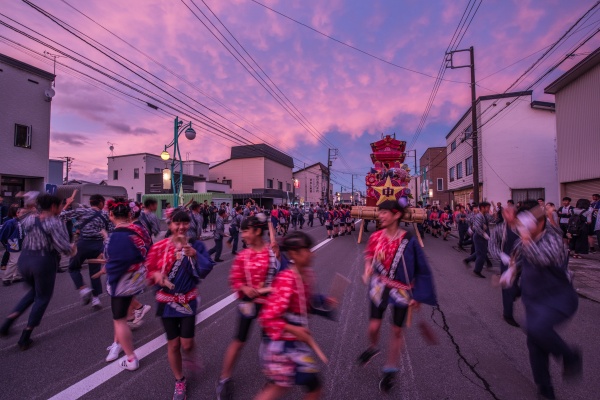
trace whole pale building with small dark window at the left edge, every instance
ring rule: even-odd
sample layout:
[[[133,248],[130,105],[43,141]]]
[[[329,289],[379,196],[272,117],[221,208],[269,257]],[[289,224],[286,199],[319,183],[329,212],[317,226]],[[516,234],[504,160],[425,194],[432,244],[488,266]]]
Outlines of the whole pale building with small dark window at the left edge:
[[[0,194],[43,191],[50,159],[54,75],[0,54]]]

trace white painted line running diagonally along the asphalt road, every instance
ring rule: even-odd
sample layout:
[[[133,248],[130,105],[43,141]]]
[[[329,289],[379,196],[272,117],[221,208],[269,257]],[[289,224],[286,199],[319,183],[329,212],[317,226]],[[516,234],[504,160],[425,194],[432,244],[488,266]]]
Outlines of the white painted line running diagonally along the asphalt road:
[[[326,245],[327,243],[329,243],[331,240],[332,239],[326,239],[310,250],[316,251],[324,245]],[[233,293],[225,297],[224,299],[221,299],[220,301],[208,307],[207,309],[201,311],[198,315],[196,315],[196,325],[200,324],[202,321],[212,317],[219,311],[223,310],[225,307],[233,303],[236,299],[237,294]],[[142,360],[166,344],[166,336],[160,335],[152,339],[145,345],[137,348],[135,350],[135,354],[137,355],[139,360]],[[124,371],[124,369],[119,366],[120,360],[121,359],[111,364],[108,364],[106,367],[94,372],[86,378],[83,378],[82,380],[73,384],[72,386],[69,386],[62,392],[55,394],[49,400],[74,400],[88,394],[98,386],[102,385],[109,379],[114,378],[115,376]]]

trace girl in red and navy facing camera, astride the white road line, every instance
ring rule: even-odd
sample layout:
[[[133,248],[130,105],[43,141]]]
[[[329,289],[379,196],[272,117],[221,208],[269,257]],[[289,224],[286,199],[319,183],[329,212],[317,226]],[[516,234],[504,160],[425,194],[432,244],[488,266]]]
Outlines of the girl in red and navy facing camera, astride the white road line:
[[[168,239],[155,243],[146,258],[148,276],[160,289],[156,292],[157,316],[167,334],[168,357],[175,375],[174,400],[186,398],[186,380],[180,350],[194,367],[194,331],[198,308],[197,286],[212,271],[214,262],[201,241],[188,244],[190,216],[177,210],[171,215]]]

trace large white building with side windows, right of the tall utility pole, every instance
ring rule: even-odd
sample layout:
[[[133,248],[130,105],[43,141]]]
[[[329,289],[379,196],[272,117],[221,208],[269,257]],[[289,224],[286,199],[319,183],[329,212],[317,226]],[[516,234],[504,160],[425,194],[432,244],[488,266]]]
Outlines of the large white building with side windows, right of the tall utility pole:
[[[515,203],[542,197],[559,204],[554,103],[531,101],[531,91],[481,96],[479,190],[483,201]],[[502,110],[502,111],[500,111]],[[448,190],[454,203],[473,200],[471,109],[446,136]]]

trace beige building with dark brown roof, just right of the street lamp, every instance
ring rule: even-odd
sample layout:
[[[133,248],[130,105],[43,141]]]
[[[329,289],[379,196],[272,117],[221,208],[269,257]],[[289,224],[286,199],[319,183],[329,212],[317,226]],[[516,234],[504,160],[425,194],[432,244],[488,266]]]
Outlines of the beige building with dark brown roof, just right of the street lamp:
[[[294,159],[266,144],[235,146],[231,157],[209,169],[211,181],[231,186],[234,202],[253,198],[264,206],[291,202]]]

